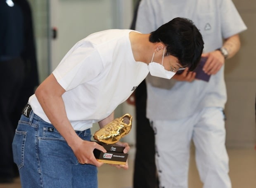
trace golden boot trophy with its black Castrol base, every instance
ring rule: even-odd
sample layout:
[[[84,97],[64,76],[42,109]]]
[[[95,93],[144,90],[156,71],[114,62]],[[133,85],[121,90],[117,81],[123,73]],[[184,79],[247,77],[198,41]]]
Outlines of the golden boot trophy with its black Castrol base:
[[[93,138],[107,150],[107,153],[96,149],[93,151],[98,161],[116,165],[126,164],[128,154],[123,153],[124,147],[115,143],[130,132],[132,120],[133,117],[130,114],[125,114],[95,132]]]

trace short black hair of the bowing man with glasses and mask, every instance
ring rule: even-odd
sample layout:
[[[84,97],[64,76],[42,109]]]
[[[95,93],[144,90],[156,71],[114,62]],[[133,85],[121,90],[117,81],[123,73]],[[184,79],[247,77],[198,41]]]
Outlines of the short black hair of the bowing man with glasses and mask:
[[[183,67],[193,71],[204,48],[201,33],[190,19],[174,18],[150,33],[150,42],[163,42],[169,55],[178,58]]]

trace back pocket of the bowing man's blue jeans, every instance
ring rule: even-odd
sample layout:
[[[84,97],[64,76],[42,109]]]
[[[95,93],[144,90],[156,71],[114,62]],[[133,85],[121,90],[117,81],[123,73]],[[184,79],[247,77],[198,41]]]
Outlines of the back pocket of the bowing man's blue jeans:
[[[24,148],[26,142],[26,134],[26,132],[16,130],[12,142],[13,160],[19,169],[24,166]]]

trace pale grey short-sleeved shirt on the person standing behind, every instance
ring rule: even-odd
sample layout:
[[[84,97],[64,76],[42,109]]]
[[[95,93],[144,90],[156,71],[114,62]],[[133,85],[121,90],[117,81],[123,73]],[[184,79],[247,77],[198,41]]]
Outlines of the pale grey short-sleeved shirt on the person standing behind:
[[[247,29],[231,0],[142,0],[135,29],[154,31],[175,17],[191,19],[204,40],[204,53],[220,48],[223,38]],[[204,107],[224,108],[227,100],[224,67],[209,82],[147,76],[147,118],[187,118]]]

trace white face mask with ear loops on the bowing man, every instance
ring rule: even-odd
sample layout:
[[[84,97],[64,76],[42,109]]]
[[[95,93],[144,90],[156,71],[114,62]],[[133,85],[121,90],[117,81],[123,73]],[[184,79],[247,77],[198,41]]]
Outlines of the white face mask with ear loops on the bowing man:
[[[164,50],[165,50],[165,48],[164,48]],[[155,54],[155,52],[154,52],[154,54]],[[147,66],[147,68],[149,69],[149,73],[152,76],[171,79],[175,75],[175,72],[167,71],[164,68],[164,66],[163,66],[164,53],[163,53],[162,65],[160,65],[159,63],[153,62],[154,54],[153,54],[151,63],[149,63],[149,65]]]

